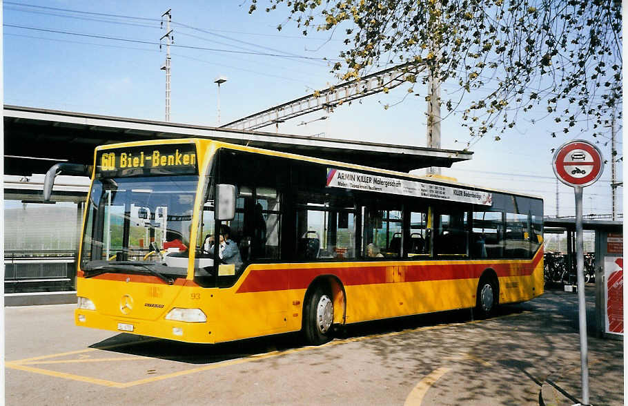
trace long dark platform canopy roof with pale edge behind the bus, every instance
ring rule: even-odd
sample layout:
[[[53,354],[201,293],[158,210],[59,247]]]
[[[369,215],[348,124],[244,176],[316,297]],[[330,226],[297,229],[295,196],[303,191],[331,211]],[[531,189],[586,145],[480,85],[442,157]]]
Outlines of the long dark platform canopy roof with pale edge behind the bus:
[[[172,122],[110,117],[21,106],[4,106],[6,175],[46,173],[57,162],[92,164],[94,148],[102,144],[200,137],[246,144],[409,172],[430,166],[451,167],[473,153],[374,142],[306,137],[260,131],[215,128]],[[389,139],[394,139],[390,134]]]

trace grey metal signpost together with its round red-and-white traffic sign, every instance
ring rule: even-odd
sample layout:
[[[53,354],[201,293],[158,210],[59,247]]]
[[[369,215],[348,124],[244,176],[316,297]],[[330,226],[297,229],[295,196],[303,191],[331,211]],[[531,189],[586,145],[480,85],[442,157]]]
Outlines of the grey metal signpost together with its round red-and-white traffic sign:
[[[569,141],[556,150],[551,164],[560,182],[573,187],[576,195],[576,264],[578,273],[578,321],[580,325],[580,366],[582,404],[589,405],[589,366],[587,365],[587,307],[585,304],[585,256],[582,244],[582,189],[602,175],[604,160],[598,147],[587,141]]]

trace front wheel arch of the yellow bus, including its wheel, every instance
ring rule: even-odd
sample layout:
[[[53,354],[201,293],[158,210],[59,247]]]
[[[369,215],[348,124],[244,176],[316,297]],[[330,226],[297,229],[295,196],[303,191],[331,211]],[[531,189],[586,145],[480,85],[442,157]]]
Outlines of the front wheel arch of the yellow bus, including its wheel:
[[[332,275],[319,276],[308,287],[303,301],[302,331],[313,345],[331,340],[331,325],[344,324],[344,286]]]

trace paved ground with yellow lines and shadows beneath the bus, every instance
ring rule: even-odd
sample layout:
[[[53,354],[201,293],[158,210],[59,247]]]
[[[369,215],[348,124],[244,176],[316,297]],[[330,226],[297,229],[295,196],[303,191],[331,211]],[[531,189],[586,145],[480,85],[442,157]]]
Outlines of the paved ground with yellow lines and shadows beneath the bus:
[[[577,296],[562,291],[490,320],[465,310],[353,326],[321,347],[84,329],[74,308],[5,309],[7,405],[573,405],[581,393]],[[623,404],[622,345],[589,338],[593,405]]]

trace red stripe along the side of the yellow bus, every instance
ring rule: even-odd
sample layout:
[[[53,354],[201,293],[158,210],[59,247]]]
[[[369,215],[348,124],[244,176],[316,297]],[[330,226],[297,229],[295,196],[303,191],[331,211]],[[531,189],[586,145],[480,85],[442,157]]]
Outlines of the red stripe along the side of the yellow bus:
[[[460,264],[444,265],[434,262],[433,264],[422,265],[389,263],[342,267],[342,264],[339,264],[337,266],[304,269],[289,267],[282,269],[252,269],[248,273],[246,280],[237,289],[237,293],[306,289],[314,278],[321,275],[336,276],[345,286],[382,284],[399,280],[398,277],[402,278],[404,282],[480,278],[482,272],[488,268],[493,269],[498,277],[530,276],[542,256],[542,250],[539,250],[530,262],[504,264],[491,262],[469,264],[461,262]],[[387,274],[389,274],[391,280],[386,280]]]

